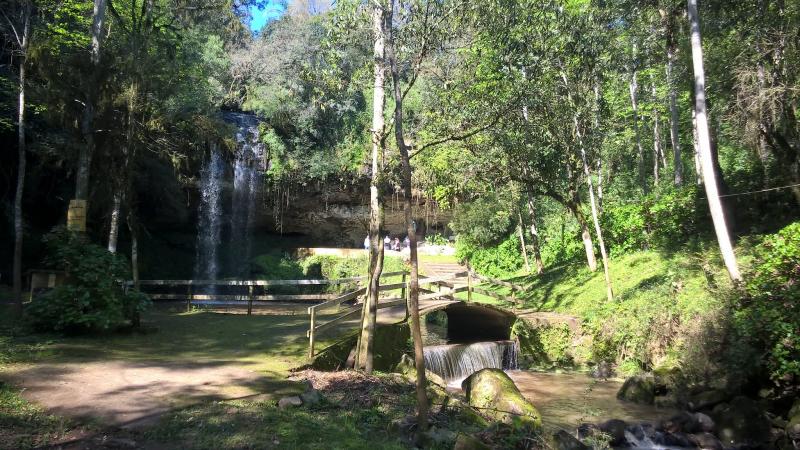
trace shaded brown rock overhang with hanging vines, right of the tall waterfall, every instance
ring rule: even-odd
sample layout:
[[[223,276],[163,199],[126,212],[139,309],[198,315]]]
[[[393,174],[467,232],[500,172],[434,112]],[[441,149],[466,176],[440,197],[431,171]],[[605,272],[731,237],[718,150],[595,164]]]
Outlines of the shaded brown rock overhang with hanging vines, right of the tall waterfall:
[[[369,184],[348,186],[310,184],[288,194],[267,193],[259,209],[256,232],[298,233],[317,244],[338,247],[361,247],[369,228]],[[278,197],[280,200],[276,200]],[[402,198],[384,198],[383,234],[403,238],[406,235]],[[435,202],[415,197],[412,214],[420,235],[446,234],[452,216],[441,211]]]

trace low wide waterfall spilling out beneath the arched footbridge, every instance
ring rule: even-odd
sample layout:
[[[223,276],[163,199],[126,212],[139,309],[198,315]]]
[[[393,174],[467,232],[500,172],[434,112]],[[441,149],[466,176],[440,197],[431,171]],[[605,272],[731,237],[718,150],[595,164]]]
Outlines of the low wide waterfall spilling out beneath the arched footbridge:
[[[424,349],[425,367],[448,384],[460,385],[481,369],[516,369],[518,345],[516,341],[431,345]]]

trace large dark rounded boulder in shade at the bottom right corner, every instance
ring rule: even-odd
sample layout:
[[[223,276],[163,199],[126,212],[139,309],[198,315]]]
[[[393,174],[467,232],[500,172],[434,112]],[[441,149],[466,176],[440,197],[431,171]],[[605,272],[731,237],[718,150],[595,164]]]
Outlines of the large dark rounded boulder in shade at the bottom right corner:
[[[747,397],[718,405],[712,413],[717,436],[724,446],[760,445],[769,441],[772,426],[764,410]]]

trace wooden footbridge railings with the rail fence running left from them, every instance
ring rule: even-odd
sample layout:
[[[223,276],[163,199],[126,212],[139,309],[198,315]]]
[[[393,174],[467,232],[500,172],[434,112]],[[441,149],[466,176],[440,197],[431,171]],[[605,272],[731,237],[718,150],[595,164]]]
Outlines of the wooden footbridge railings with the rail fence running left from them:
[[[521,306],[517,294],[524,290],[518,284],[485,277],[470,270],[446,273],[458,270],[460,267],[444,266],[428,268],[427,272],[432,276],[422,277],[419,280],[421,315],[456,303],[473,303],[473,295],[480,294],[509,305],[515,315],[537,324],[564,322],[571,327],[577,324],[577,319],[574,317],[517,309]],[[378,323],[391,324],[408,318],[407,278],[408,273],[404,271],[381,275]],[[139,288],[155,301],[185,302],[187,311],[193,306],[246,307],[247,314],[250,315],[254,308],[274,307],[286,303],[293,305],[315,303],[306,309],[309,317],[309,328],[306,332],[309,341],[308,355],[313,357],[315,343],[320,335],[334,330],[344,332],[359,326],[366,296],[364,286],[366,282],[366,276],[331,280],[141,280]],[[126,282],[125,286],[130,288],[133,282]],[[510,295],[502,295],[488,289],[501,286],[508,288]],[[340,293],[323,292],[332,287],[338,288]],[[314,292],[294,293],[299,290]],[[492,306],[483,301],[480,304]]]

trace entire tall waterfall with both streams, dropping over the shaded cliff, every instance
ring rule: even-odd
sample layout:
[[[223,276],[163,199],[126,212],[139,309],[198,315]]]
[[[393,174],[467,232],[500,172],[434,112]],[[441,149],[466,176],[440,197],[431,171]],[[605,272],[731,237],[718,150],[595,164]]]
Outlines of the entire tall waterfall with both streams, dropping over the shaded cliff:
[[[255,116],[226,113],[224,118],[236,126],[236,149],[226,158],[218,146],[212,146],[200,172],[195,279],[250,275],[265,148]]]

